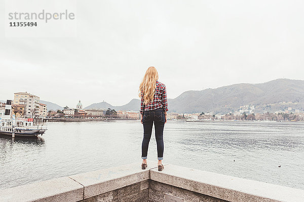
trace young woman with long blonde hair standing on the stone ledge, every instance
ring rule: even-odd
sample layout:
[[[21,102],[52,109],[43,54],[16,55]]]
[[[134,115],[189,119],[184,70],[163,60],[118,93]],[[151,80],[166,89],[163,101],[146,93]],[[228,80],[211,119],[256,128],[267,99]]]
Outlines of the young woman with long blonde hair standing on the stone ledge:
[[[167,122],[167,91],[165,84],[158,81],[159,76],[155,67],[149,67],[139,86],[140,122],[143,124],[143,139],[141,144],[141,169],[147,167],[148,145],[154,123],[157,142],[158,170],[162,171],[164,154],[163,132]]]

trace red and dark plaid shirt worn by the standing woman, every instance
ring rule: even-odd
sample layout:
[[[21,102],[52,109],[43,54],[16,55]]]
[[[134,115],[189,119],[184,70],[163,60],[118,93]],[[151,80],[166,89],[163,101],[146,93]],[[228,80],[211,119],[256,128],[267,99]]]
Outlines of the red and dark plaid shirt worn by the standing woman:
[[[143,105],[143,94],[141,92],[140,99],[140,114],[143,114],[143,111],[156,110],[163,108],[166,112],[168,111],[168,102],[167,102],[167,90],[165,84],[156,80],[156,88],[153,100],[147,105]]]

